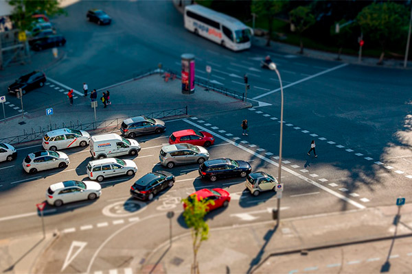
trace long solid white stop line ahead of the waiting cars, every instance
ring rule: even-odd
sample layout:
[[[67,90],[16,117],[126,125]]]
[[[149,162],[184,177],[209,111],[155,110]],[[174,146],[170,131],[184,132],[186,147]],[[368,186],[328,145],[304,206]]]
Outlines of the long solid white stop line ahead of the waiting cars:
[[[196,124],[196,123],[193,123],[192,121],[189,121],[189,120],[187,120],[187,119],[183,119],[183,121],[185,121],[186,123],[189,123],[190,125],[193,125],[193,126],[195,126],[195,127],[198,127],[199,129],[202,129],[202,130],[205,130],[205,131],[209,131],[209,130],[206,129],[205,127],[202,127],[201,125],[198,125],[198,124]],[[210,132],[210,131],[209,131],[209,132]],[[212,135],[214,135],[215,137],[218,137],[218,138],[220,138],[220,139],[222,139],[222,140],[225,140],[226,142],[230,142],[232,145],[234,145],[234,146],[236,146],[236,147],[238,147],[238,148],[240,148],[240,149],[242,149],[242,150],[244,150],[244,151],[247,151],[248,153],[250,153],[250,154],[252,154],[252,155],[255,155],[255,157],[257,157],[257,158],[260,158],[260,159],[262,159],[262,160],[264,160],[264,161],[266,161],[266,162],[268,162],[268,163],[270,163],[270,164],[273,164],[274,166],[279,166],[279,164],[277,164],[277,162],[275,162],[275,161],[273,161],[273,160],[271,160],[271,159],[268,159],[268,158],[264,157],[263,155],[260,155],[259,153],[255,153],[255,151],[252,151],[251,149],[248,149],[247,147],[243,147],[242,145],[238,144],[237,142],[233,142],[232,140],[229,140],[229,139],[225,138],[224,136],[221,136],[220,134],[217,134],[217,133],[215,133],[215,132],[210,132],[210,133],[211,133]],[[334,190],[331,190],[330,188],[327,188],[326,186],[323,186],[323,185],[321,185],[321,184],[319,184],[319,183],[317,183],[317,182],[314,182],[312,179],[309,179],[309,178],[307,178],[307,177],[305,177],[305,176],[303,176],[303,175],[301,175],[301,174],[299,174],[299,173],[297,173],[297,172],[295,172],[295,171],[293,171],[293,170],[291,170],[291,169],[288,169],[288,168],[285,167],[285,166],[282,166],[282,169],[283,169],[284,171],[292,174],[292,175],[295,175],[296,177],[299,177],[300,179],[303,179],[303,180],[306,181],[308,184],[312,184],[313,186],[317,186],[318,188],[321,188],[322,190],[330,193],[331,195],[334,195],[335,197],[337,197],[337,198],[339,198],[339,199],[342,199],[343,201],[346,201],[347,203],[352,204],[352,206],[355,206],[356,208],[361,208],[361,209],[365,209],[365,208],[366,208],[366,207],[363,206],[361,203],[358,203],[358,202],[356,202],[356,201],[352,201],[351,199],[345,197],[344,195],[341,195],[340,193],[338,193],[338,192],[336,192],[336,191],[334,191]]]

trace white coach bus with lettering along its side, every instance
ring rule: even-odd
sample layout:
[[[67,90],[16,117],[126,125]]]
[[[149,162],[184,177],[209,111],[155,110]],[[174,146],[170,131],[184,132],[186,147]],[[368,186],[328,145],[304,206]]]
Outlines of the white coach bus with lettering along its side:
[[[185,28],[233,51],[251,47],[252,29],[238,19],[203,5],[185,7]]]

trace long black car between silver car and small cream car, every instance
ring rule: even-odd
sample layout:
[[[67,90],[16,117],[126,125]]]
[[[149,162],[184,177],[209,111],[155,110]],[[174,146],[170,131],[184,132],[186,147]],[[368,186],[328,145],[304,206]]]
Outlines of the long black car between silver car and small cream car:
[[[211,182],[219,177],[246,177],[251,171],[252,167],[248,162],[229,158],[208,160],[199,166],[199,175]]]

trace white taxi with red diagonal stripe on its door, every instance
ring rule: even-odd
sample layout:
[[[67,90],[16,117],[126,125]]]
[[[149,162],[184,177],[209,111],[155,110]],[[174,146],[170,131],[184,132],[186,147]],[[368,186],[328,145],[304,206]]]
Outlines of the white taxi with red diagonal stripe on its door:
[[[90,134],[84,130],[64,128],[47,132],[41,144],[44,149],[56,151],[70,147],[86,147],[89,142]]]

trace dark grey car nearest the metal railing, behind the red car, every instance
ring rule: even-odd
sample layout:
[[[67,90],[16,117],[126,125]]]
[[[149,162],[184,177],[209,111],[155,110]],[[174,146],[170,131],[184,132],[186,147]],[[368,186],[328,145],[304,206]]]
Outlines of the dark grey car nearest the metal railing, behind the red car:
[[[123,121],[120,131],[126,138],[135,138],[137,135],[157,133],[166,130],[165,122],[159,119],[151,119],[146,116],[137,116]]]

